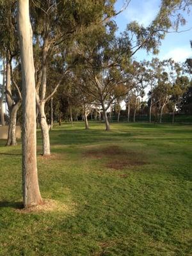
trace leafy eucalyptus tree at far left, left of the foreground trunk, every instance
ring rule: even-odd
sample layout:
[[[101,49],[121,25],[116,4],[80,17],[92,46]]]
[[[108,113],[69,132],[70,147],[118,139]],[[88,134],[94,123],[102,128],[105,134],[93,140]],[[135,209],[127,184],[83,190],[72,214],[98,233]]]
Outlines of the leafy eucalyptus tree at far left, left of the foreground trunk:
[[[17,60],[19,54],[18,40],[15,40],[17,38],[16,8],[16,1],[0,1],[0,52],[6,58],[5,94],[10,115],[6,145],[17,144],[15,127],[21,101],[19,86],[12,79],[13,61]],[[14,95],[15,88],[18,92],[17,97]]]

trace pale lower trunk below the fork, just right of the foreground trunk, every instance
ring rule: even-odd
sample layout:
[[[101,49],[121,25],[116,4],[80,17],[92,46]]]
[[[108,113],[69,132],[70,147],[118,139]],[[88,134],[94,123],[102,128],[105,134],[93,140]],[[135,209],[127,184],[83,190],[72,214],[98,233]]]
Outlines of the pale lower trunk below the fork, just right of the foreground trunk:
[[[44,101],[38,104],[38,111],[40,115],[40,125],[41,125],[41,131],[42,131],[43,156],[49,156],[51,154],[50,140],[49,140],[49,125],[47,124],[47,120],[45,116]]]

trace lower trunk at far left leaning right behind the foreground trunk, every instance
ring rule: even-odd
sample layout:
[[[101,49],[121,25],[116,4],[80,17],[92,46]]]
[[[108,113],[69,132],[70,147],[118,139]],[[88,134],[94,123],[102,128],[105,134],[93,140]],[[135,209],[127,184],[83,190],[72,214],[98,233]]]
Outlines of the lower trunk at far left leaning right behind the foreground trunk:
[[[16,125],[17,125],[17,111],[20,108],[21,102],[17,102],[10,113],[10,122],[8,128],[8,139],[6,142],[7,146],[15,146],[17,145],[17,138],[16,138]]]

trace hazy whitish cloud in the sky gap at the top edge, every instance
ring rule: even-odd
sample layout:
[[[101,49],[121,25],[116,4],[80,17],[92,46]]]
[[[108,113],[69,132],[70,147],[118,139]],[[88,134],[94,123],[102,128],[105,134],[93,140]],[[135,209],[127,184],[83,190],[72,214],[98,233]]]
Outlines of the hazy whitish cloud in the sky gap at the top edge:
[[[148,26],[156,17],[158,12],[159,0],[133,1],[135,4],[129,5],[124,12],[124,17],[129,21],[136,20],[138,23]]]

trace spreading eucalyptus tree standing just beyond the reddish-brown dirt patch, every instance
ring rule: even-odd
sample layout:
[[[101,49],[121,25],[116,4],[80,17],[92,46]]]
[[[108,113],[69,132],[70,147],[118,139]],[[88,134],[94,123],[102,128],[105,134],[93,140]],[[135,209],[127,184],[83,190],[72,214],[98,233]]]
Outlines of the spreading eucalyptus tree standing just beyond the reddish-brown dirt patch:
[[[92,33],[81,38],[75,52],[81,89],[102,107],[107,131],[110,129],[108,109],[130,88],[129,75],[125,72],[130,59],[129,41],[125,36],[116,38],[115,29],[111,22],[108,28],[97,31],[97,35]],[[87,79],[88,83],[84,83]]]

